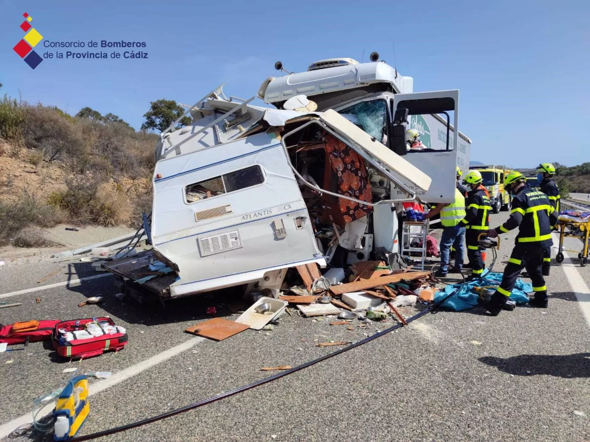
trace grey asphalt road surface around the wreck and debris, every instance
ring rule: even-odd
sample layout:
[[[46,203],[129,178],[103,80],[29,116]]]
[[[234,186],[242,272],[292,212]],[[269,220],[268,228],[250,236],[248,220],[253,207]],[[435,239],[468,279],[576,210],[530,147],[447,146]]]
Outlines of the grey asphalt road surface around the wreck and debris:
[[[491,216],[492,225],[506,216]],[[503,269],[513,236],[503,235],[494,270]],[[578,239],[566,238],[565,249],[566,259],[561,265],[553,260],[547,280],[548,309],[519,306],[497,317],[480,308],[438,311],[280,380],[101,440],[588,441],[590,270],[571,259],[581,249]],[[37,283],[57,269],[58,275]],[[101,277],[55,286],[94,275]],[[65,368],[113,372],[91,381],[90,415],[79,433],[89,434],[267,377],[271,372],[261,367],[295,366],[334,349],[317,342],[358,341],[393,324],[350,331],[285,314],[273,331],[247,330],[215,342],[183,329],[209,318],[209,305],[237,318],[222,304],[239,297],[138,305],[117,299],[113,277],[102,275],[76,260],[0,270],[0,301],[22,303],[0,309],[2,324],[108,315],[129,334],[117,354],[82,362],[60,361],[42,342],[0,354],[0,440],[51,440],[26,424],[32,401],[71,375]],[[47,285],[53,286],[2,297]],[[96,295],[104,296],[103,304],[77,306]]]

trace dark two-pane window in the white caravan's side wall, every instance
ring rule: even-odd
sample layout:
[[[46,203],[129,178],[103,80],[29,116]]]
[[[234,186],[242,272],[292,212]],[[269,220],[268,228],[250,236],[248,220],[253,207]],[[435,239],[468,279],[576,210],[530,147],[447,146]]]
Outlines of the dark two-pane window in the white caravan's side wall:
[[[185,187],[186,202],[194,203],[262,183],[264,183],[264,174],[262,168],[256,164],[205,181],[189,184]]]

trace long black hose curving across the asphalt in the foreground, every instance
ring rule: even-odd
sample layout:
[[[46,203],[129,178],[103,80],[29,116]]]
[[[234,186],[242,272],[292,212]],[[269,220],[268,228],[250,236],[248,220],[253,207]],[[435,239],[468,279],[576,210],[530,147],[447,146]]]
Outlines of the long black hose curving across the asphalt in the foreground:
[[[465,278],[463,278],[463,279],[465,279]],[[465,285],[465,282],[463,282],[463,284],[461,284],[460,287],[455,289],[449,295],[442,298],[440,301],[428,306],[428,308],[425,308],[424,310],[415,314],[411,318],[406,319],[406,322],[409,324],[410,322],[415,321],[416,319],[421,318],[425,314],[433,311],[435,308],[440,306],[443,302],[447,301],[448,298],[450,298],[455,293],[457,293],[459,291],[459,289],[463,288],[464,285]],[[289,370],[285,370],[285,371],[279,372],[277,374],[274,374],[272,376],[269,376],[267,378],[252,382],[251,384],[242,385],[242,387],[234,388],[234,390],[230,390],[225,393],[218,394],[216,396],[210,397],[208,399],[204,399],[202,401],[195,402],[193,404],[185,405],[185,407],[182,407],[182,408],[176,408],[176,410],[167,411],[166,413],[162,413],[157,416],[148,417],[146,419],[136,421],[136,422],[133,422],[130,424],[125,424],[125,425],[120,425],[119,427],[110,428],[110,430],[97,431],[96,433],[87,434],[86,436],[74,437],[74,438],[68,439],[68,442],[80,442],[83,440],[96,439],[97,437],[109,436],[110,434],[120,433],[121,431],[127,431],[127,430],[131,430],[132,428],[142,427],[143,425],[151,424],[153,422],[165,419],[167,417],[172,417],[176,414],[184,413],[185,411],[194,410],[195,408],[202,407],[203,405],[208,405],[208,404],[217,402],[219,400],[233,396],[234,394],[241,393],[242,391],[250,390],[251,388],[258,387],[259,385],[267,384],[268,382],[271,382],[271,381],[274,381],[278,378],[282,378],[284,376],[290,375],[291,373],[294,373],[296,371],[303,370],[304,368],[307,368],[307,367],[311,367],[312,365],[317,364],[318,362],[325,361],[326,359],[335,357],[336,355],[342,354],[345,351],[349,351],[350,349],[360,347],[361,345],[366,344],[367,342],[371,342],[373,339],[380,338],[383,335],[388,334],[389,332],[392,332],[398,328],[401,328],[402,326],[404,326],[404,324],[396,324],[396,325],[391,326],[391,327],[389,327],[381,332],[378,332],[372,336],[366,337],[365,339],[355,342],[354,344],[350,344],[347,347],[341,348],[341,349],[336,350],[336,351],[329,353],[327,355],[320,356],[319,358],[313,359],[312,361],[304,362],[304,364],[297,365],[297,367],[290,368]]]

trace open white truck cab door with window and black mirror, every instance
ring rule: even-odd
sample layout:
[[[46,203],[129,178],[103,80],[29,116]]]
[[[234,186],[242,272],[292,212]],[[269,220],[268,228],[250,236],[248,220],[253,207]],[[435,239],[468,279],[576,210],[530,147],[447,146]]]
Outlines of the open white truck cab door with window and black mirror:
[[[457,165],[459,91],[435,91],[412,94],[395,94],[391,100],[391,114],[394,123],[390,138],[398,137],[401,131],[394,132],[394,126],[403,124],[405,129],[415,129],[420,134],[421,149],[395,149],[404,159],[430,176],[431,186],[426,191],[418,191],[417,196],[429,203],[450,203],[455,197],[455,167]],[[406,111],[407,110],[407,111]],[[400,118],[405,121],[400,121]],[[442,123],[441,121],[444,121]],[[453,129],[451,129],[451,125]],[[453,136],[454,134],[457,136]],[[452,140],[451,140],[452,138]],[[441,143],[442,141],[442,143]],[[401,146],[401,144],[397,144]],[[404,199],[403,189],[394,187],[392,199]]]

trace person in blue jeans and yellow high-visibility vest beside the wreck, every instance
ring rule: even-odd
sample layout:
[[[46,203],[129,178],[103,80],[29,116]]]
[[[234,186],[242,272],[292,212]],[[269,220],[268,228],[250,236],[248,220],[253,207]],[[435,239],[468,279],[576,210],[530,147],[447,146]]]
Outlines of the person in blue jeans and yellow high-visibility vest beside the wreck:
[[[438,203],[437,206],[428,212],[424,217],[431,218],[438,213],[441,214],[442,235],[441,235],[441,268],[435,273],[437,278],[444,278],[449,272],[449,256],[451,246],[455,247],[454,272],[460,272],[463,267],[465,256],[465,227],[460,221],[465,217],[465,196],[455,189],[455,200],[450,204]]]

